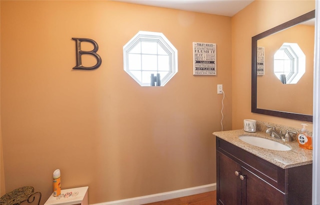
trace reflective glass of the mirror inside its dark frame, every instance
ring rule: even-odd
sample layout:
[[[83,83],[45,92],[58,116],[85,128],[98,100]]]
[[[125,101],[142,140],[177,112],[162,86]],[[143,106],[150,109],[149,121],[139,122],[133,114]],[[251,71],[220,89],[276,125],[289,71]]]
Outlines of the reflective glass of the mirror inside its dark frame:
[[[264,47],[265,60],[257,107],[312,114],[314,25],[297,24],[259,39],[257,46]]]

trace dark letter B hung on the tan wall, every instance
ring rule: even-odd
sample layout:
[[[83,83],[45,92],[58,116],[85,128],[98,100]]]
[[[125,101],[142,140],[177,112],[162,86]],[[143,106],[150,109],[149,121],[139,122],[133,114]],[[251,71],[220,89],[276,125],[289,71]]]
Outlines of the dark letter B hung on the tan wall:
[[[77,37],[72,37],[72,40],[75,41],[75,51],[76,51],[76,65],[72,69],[92,70],[92,69],[98,68],[101,65],[101,61],[102,61],[101,57],[96,53],[96,51],[99,49],[99,46],[94,40],[89,38],[77,38]],[[81,50],[81,42],[83,41],[92,43],[93,49],[89,51]],[[96,64],[91,67],[83,66],[81,61],[82,54],[93,55],[96,59]]]

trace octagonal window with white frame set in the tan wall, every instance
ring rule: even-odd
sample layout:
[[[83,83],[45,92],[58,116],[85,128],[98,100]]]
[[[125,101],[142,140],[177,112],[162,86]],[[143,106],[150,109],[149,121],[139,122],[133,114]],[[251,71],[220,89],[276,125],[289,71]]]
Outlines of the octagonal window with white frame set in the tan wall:
[[[141,86],[163,86],[177,72],[177,50],[160,32],[139,31],[123,46],[123,68]]]

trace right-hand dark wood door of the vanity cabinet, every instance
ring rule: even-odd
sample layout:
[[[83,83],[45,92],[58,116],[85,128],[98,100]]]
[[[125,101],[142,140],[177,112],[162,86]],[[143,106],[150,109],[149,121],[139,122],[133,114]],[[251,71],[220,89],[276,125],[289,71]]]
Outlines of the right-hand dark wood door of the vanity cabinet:
[[[286,204],[286,195],[244,167],[241,182],[241,204]]]

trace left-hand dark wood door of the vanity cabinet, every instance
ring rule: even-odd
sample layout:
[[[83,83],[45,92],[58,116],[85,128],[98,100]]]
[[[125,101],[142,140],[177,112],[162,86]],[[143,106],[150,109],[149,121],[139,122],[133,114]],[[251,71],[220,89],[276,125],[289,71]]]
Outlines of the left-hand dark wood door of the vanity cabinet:
[[[217,204],[240,204],[241,180],[235,171],[241,170],[240,164],[226,155],[216,152],[216,201]]]

